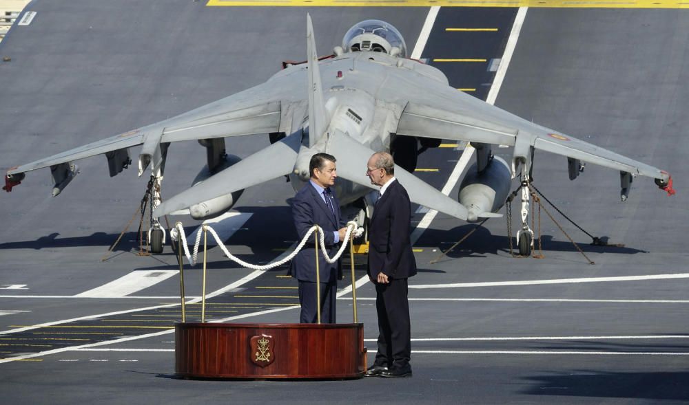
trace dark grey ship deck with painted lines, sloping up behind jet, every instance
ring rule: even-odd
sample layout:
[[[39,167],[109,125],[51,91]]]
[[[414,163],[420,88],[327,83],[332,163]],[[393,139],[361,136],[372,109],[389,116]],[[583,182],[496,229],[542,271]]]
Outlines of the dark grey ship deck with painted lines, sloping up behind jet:
[[[3,170],[263,82],[282,61],[305,58],[307,12],[320,54],[371,18],[395,25],[411,50],[429,14],[428,7],[243,8],[189,0],[34,0],[25,11],[36,12],[32,22],[15,25],[0,43],[0,60],[11,58],[0,62]],[[511,256],[503,218],[431,264],[475,226],[437,215],[426,227],[427,211],[419,208],[413,236],[420,270],[409,291],[412,378],[178,380],[170,329],[180,320],[174,254],[167,247],[138,256],[134,224],[101,261],[136,212],[147,178],[130,168],[110,179],[105,158],[93,157],[78,163],[81,174],[53,199],[43,169],[0,196],[0,402],[688,402],[689,13],[442,7],[420,56],[451,85],[485,99],[495,86],[491,63],[506,63],[508,37],[524,12],[495,105],[675,179],[677,195],[668,198],[639,177],[621,203],[615,171],[589,165],[570,182],[564,157],[535,155],[535,186],[582,228],[624,247],[590,245],[555,215],[591,265],[543,213],[542,259]],[[443,58],[485,62],[434,61]],[[236,138],[227,151],[246,156],[268,144],[267,137]],[[463,148],[443,146],[422,153],[418,164],[417,174],[438,189]],[[196,142],[172,145],[163,197],[187,188],[204,164]],[[254,263],[285,252],[296,238],[291,195],[284,179],[245,190],[229,219],[229,249]],[[189,234],[198,226],[182,220]],[[296,283],[284,267],[251,278],[218,248],[209,261],[209,292],[216,292],[210,319],[298,320]],[[356,262],[360,278],[365,256]],[[192,298],[200,295],[199,267],[186,267]],[[370,283],[358,289],[369,363],[378,333],[374,297]],[[198,305],[189,316],[198,319]],[[343,294],[338,320],[350,319],[351,296]]]

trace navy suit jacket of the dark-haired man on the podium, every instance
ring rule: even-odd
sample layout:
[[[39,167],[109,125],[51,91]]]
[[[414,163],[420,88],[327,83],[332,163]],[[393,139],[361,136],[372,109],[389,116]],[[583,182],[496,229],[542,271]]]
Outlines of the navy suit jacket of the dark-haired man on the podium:
[[[325,233],[325,245],[328,249],[328,256],[334,256],[339,248],[339,244],[335,244],[335,236],[333,231],[345,226],[344,221],[340,215],[340,201],[335,195],[334,187],[330,188],[333,195],[333,208],[335,208],[336,218],[333,218],[332,212],[325,201],[318,195],[310,182],[298,191],[292,199],[292,217],[294,217],[294,227],[297,230],[299,241],[309,231],[309,228],[314,224],[318,224]],[[319,237],[320,239],[320,237]],[[316,282],[316,252],[313,251],[313,234],[310,240],[304,245],[304,248],[294,256],[291,265],[289,265],[288,275],[293,276],[301,281]],[[329,283],[342,278],[342,266],[338,260],[336,263],[328,263],[322,255],[320,245],[318,246],[318,267],[320,269],[320,282]]]

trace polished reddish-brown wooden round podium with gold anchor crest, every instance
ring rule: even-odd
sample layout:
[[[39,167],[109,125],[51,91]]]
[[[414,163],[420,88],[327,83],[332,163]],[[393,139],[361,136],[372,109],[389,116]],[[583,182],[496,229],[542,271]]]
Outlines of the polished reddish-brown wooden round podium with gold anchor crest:
[[[358,378],[366,356],[361,323],[175,324],[175,372],[185,378]]]

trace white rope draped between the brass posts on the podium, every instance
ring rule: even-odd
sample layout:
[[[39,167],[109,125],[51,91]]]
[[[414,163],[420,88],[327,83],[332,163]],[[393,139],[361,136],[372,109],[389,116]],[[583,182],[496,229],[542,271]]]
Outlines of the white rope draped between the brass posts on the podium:
[[[318,232],[319,232],[318,234],[320,235],[320,248],[322,250],[323,257],[324,257],[325,261],[327,261],[328,263],[335,263],[338,259],[340,259],[340,256],[342,256],[342,253],[345,252],[345,248],[347,248],[347,243],[349,243],[349,236],[352,234],[352,232],[353,232],[355,237],[360,236],[360,234],[362,234],[364,232],[363,228],[356,229],[356,222],[354,222],[354,221],[347,222],[347,231],[345,232],[345,238],[344,238],[344,241],[342,241],[343,242],[342,246],[340,246],[340,250],[338,250],[338,252],[335,254],[335,256],[333,256],[333,258],[331,259],[331,257],[328,256],[327,250],[325,249],[325,234],[323,233],[323,230],[322,230],[322,228],[320,228],[320,226],[314,225],[311,228],[309,228],[309,231],[304,235],[304,238],[302,239],[302,241],[296,247],[294,252],[291,252],[291,254],[289,254],[289,256],[285,257],[284,259],[282,259],[280,261],[268,263],[266,265],[254,265],[251,263],[247,263],[247,262],[243,261],[242,259],[239,259],[237,256],[234,256],[234,254],[230,253],[229,250],[227,250],[225,243],[220,240],[220,237],[218,236],[216,231],[213,228],[211,228],[211,226],[208,226],[207,224],[203,224],[202,226],[200,226],[200,228],[198,228],[198,231],[196,232],[196,241],[194,242],[194,254],[189,254],[189,247],[187,246],[187,243],[186,243],[187,236],[184,233],[184,227],[182,226],[181,222],[178,222],[175,224],[175,227],[172,228],[172,230],[170,230],[170,237],[172,238],[172,241],[178,241],[179,240],[178,238],[180,238],[180,237],[182,238],[183,241],[185,241],[184,243],[182,243],[182,246],[184,248],[184,254],[185,254],[185,256],[187,256],[187,261],[189,261],[189,265],[192,265],[192,266],[196,265],[197,256],[198,256],[198,245],[200,244],[201,232],[203,232],[203,230],[207,230],[208,232],[210,232],[210,234],[213,235],[213,237],[216,240],[216,243],[218,243],[218,246],[220,246],[220,249],[223,250],[223,252],[225,253],[225,256],[227,256],[230,260],[238,263],[239,265],[242,265],[243,267],[247,267],[251,270],[264,270],[264,271],[270,270],[274,267],[278,267],[279,265],[283,265],[283,264],[287,263],[288,261],[290,261],[291,259],[294,259],[294,256],[296,256],[296,254],[300,250],[302,250],[302,248],[304,248],[304,245],[307,243],[307,241],[309,241],[309,237],[311,237],[311,234],[313,232],[315,232],[316,230],[318,230]]]

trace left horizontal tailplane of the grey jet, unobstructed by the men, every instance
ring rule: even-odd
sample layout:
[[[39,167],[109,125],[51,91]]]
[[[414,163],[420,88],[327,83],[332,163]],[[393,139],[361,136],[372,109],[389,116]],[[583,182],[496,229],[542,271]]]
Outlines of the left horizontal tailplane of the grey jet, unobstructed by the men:
[[[301,133],[293,133],[209,177],[203,183],[163,201],[154,210],[153,216],[160,218],[170,212],[287,175],[294,169],[300,136]]]

